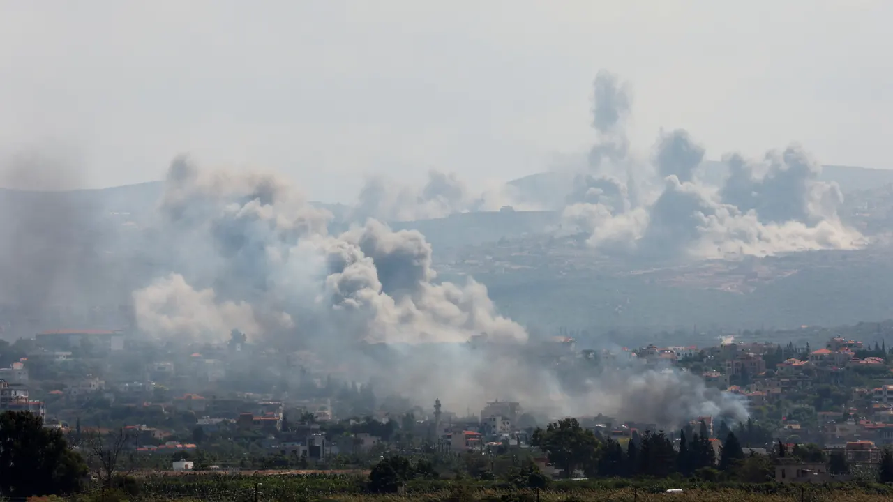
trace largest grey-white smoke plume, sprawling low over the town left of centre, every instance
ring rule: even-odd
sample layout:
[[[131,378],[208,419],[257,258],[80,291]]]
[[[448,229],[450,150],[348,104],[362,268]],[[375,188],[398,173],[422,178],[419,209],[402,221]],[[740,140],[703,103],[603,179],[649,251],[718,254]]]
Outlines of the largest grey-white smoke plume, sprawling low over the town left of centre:
[[[611,186],[590,195],[625,197]],[[733,399],[677,372],[578,368],[563,379],[482,284],[438,281],[421,233],[369,219],[332,235],[330,214],[276,176],[204,172],[180,157],[158,209],[150,252],[168,266],[133,293],[139,328],[154,339],[222,342],[236,329],[263,346],[313,352],[382,395],[439,397],[453,409],[499,397],[550,416],[681,423],[737,413]],[[652,407],[637,409],[645,395]]]

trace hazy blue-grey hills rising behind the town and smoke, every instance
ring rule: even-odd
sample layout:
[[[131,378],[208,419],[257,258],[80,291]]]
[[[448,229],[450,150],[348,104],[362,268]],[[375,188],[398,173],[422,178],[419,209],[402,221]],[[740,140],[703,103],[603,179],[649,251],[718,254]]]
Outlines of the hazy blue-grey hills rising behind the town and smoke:
[[[715,163],[705,167],[705,175],[722,176],[719,171]],[[572,180],[569,176],[547,172],[511,184],[522,198],[542,198],[563,193],[561,186]],[[888,300],[893,297],[893,261],[887,238],[893,229],[893,171],[825,166],[822,178],[845,188],[842,217],[871,235],[872,245],[857,251],[680,264],[599,255],[582,238],[561,233],[561,213],[555,210],[455,213],[390,225],[425,235],[434,249],[438,280],[472,276],[488,287],[501,313],[537,330],[586,330],[591,336],[681,330],[690,335],[697,330],[786,329],[893,318]],[[140,247],[151,240],[142,231],[144,218],[162,193],[162,182],[69,192],[2,189],[0,209],[8,216],[0,224],[10,236],[7,240],[26,244],[27,239],[20,238],[22,226],[61,224],[67,229],[62,243],[70,250]],[[557,197],[553,202],[562,204]],[[345,205],[317,205],[335,214],[331,231],[347,228]],[[32,248],[21,247],[17,252]],[[52,291],[47,286],[42,292],[50,295],[77,290],[101,274],[104,283],[116,285],[102,292],[114,303],[129,297],[159,265],[150,260],[122,264],[107,254],[96,255],[90,263],[82,270],[64,271],[71,275],[66,280],[53,277],[54,271],[33,272],[29,280],[52,284]],[[6,277],[12,273],[18,272],[4,271]],[[4,298],[6,303],[11,300]]]

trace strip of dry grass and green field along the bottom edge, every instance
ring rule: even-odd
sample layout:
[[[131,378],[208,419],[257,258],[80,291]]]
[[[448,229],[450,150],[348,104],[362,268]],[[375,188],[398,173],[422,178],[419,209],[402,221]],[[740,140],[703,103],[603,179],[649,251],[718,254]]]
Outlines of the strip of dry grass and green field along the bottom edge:
[[[861,502],[889,500],[893,485],[839,483],[834,485],[780,485],[776,483],[705,483],[694,480],[621,479],[555,481],[546,489],[518,488],[497,481],[417,481],[401,494],[370,493],[361,477],[226,476],[189,474],[130,478],[114,489],[95,489],[71,500],[431,500],[533,502],[588,500],[664,500],[667,489],[675,500],[827,500]]]

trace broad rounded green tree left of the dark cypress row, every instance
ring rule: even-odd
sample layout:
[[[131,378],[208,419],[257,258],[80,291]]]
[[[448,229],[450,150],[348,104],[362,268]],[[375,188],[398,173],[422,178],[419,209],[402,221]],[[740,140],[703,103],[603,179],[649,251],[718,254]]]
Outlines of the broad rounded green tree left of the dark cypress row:
[[[571,477],[577,468],[585,473],[596,471],[598,440],[592,431],[580,427],[575,418],[550,423],[545,431],[537,428],[530,444],[547,451],[549,461],[560,465],[565,477]]]

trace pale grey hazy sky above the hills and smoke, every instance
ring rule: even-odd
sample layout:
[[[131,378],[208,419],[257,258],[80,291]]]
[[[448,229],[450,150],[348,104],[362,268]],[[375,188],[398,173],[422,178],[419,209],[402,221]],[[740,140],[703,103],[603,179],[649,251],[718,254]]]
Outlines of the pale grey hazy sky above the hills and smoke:
[[[639,149],[684,127],[711,158],[797,140],[893,167],[890,20],[889,0],[0,0],[0,158],[96,187],[188,152],[316,200],[364,172],[508,180],[588,148],[604,68]]]

